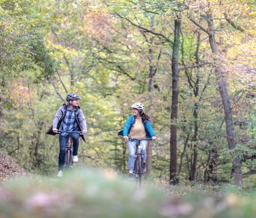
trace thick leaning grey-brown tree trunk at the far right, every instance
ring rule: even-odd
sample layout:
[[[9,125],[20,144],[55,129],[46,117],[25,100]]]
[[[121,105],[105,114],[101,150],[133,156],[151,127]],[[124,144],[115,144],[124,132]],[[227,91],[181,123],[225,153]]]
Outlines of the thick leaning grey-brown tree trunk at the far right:
[[[214,26],[213,26],[213,18],[211,14],[208,14],[207,22],[208,22],[209,43],[210,43],[212,52],[214,54],[214,61],[218,63],[219,50],[214,38]],[[231,105],[229,101],[228,91],[225,84],[224,72],[220,68],[220,66],[217,65],[215,68],[215,73],[219,77],[219,92],[220,92],[220,96],[222,99],[224,112],[225,112],[225,123],[226,123],[228,146],[230,150],[235,150],[236,142],[235,142],[232,110],[231,110]],[[242,184],[241,161],[240,161],[240,158],[237,157],[236,153],[233,159],[233,167],[234,167],[235,184],[240,186]]]

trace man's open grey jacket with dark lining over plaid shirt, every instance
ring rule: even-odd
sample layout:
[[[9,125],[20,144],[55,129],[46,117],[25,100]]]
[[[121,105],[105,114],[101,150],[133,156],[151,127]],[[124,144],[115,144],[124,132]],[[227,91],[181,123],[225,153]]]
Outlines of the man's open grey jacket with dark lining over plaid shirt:
[[[53,135],[53,136],[56,135],[56,133],[53,132],[53,128],[59,129],[64,117],[66,116],[67,108],[68,108],[68,106],[66,106],[66,104],[63,104],[59,108],[59,110],[56,112],[56,114],[53,118],[53,126],[51,126],[48,129],[46,134]],[[80,109],[79,106],[76,107],[75,120],[78,123],[78,127],[79,127],[80,131],[87,130],[85,116],[84,116],[84,113],[82,112],[82,110]],[[84,135],[80,135],[80,137],[82,137],[82,139],[85,141]]]

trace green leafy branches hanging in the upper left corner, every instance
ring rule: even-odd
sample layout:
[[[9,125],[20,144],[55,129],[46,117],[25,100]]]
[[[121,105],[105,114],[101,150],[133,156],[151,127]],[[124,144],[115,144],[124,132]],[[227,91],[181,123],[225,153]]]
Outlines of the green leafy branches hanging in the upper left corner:
[[[34,0],[5,0],[1,3],[0,97],[7,106],[24,106],[28,101],[23,91],[27,87],[19,83],[13,84],[13,80],[17,79],[24,69],[34,67],[35,63],[45,72],[53,68],[53,61],[49,58],[50,55],[43,42],[47,30],[43,25],[43,19],[46,17],[38,19],[36,14],[41,9],[31,6],[34,3]]]

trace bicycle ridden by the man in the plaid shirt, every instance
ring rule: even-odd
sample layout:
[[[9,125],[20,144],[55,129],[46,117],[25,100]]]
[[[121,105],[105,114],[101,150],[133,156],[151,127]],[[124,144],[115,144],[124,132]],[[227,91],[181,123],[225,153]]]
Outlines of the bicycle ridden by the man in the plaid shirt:
[[[67,145],[66,145],[66,148],[65,148],[64,169],[71,170],[72,167],[73,167],[73,139],[72,139],[72,133],[79,133],[81,135],[82,132],[58,130],[58,132],[56,132],[56,134],[59,134],[60,132],[68,133],[68,142],[67,142]]]

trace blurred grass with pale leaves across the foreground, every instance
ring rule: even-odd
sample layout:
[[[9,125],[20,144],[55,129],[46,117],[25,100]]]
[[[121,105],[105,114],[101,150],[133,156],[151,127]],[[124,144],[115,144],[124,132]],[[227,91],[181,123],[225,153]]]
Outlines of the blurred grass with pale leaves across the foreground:
[[[171,198],[159,189],[138,189],[111,171],[72,171],[0,186],[0,218],[255,218],[255,205],[256,193]]]

